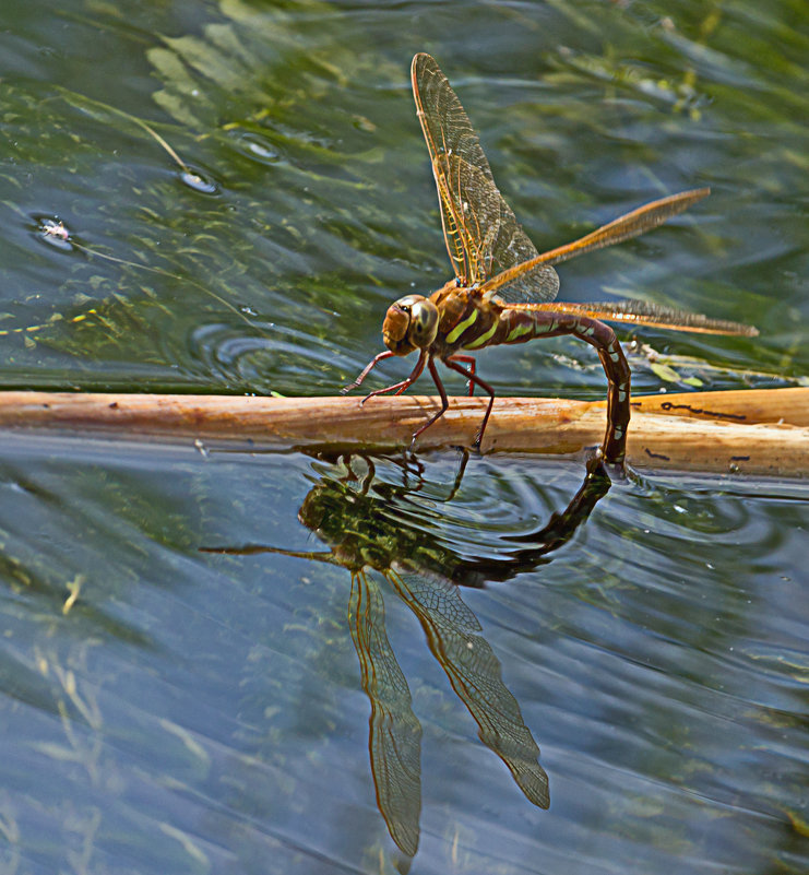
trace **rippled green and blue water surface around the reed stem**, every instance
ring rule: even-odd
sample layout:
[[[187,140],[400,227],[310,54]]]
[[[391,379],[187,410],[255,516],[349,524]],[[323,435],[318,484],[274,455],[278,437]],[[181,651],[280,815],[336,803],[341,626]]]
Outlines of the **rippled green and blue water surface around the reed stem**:
[[[804,3],[126,5],[0,11],[2,388],[334,394],[450,274],[419,50],[540,250],[713,189],[560,268],[760,329],[624,331],[639,391],[806,382]],[[478,367],[604,394],[572,340]],[[804,482],[14,434],[0,465],[2,873],[809,870]]]

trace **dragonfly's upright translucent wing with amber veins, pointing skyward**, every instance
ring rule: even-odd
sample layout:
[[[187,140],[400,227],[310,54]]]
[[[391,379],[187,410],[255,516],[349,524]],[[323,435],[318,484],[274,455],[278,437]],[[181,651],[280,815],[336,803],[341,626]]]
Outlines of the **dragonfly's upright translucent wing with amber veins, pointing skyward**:
[[[538,256],[495,185],[477,134],[447,76],[429,55],[411,69],[416,115],[430,152],[447,250],[462,285],[488,277]],[[509,300],[552,300],[559,277],[538,263],[509,284]]]

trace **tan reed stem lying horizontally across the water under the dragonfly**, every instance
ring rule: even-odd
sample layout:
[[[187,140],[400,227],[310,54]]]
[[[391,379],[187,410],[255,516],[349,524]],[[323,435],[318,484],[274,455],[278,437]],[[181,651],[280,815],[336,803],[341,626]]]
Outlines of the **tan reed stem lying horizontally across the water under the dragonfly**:
[[[418,449],[471,445],[486,401],[453,398]],[[128,439],[251,441],[308,450],[406,447],[438,399],[0,392],[0,427],[105,433]],[[598,446],[604,402],[498,398],[484,451],[581,453]],[[809,474],[809,388],[638,395],[629,462],[639,469]]]

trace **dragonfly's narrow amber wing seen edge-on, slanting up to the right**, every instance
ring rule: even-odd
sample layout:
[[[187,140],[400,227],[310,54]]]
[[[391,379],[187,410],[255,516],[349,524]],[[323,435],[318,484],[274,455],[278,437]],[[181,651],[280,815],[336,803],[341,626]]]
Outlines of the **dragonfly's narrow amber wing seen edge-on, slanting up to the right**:
[[[679,194],[670,194],[667,198],[661,198],[652,201],[652,203],[639,206],[637,210],[632,210],[631,213],[626,213],[612,222],[602,225],[602,227],[586,234],[584,237],[580,237],[578,240],[573,240],[573,243],[534,256],[534,258],[524,261],[522,264],[507,268],[501,273],[487,280],[480,287],[480,292],[486,298],[497,295],[504,300],[514,300],[510,295],[510,289],[515,284],[519,286],[524,276],[533,276],[539,268],[548,264],[559,264],[576,256],[583,256],[585,252],[592,252],[594,249],[603,249],[605,246],[612,246],[645,234],[647,230],[656,228],[657,225],[662,225],[673,216],[687,210],[692,203],[706,198],[710,193],[710,188],[697,188],[691,191],[681,191]]]

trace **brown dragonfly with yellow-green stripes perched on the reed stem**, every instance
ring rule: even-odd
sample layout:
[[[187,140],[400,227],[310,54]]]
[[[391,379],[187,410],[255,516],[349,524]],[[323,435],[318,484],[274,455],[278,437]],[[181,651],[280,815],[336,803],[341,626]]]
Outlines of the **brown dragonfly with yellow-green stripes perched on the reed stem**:
[[[607,377],[607,428],[600,458],[623,469],[630,417],[630,369],[615,331],[603,320],[714,334],[754,336],[752,326],[710,319],[646,301],[555,301],[555,265],[576,256],[637,237],[710,194],[709,188],[682,191],[640,206],[578,240],[539,253],[503,199],[466,111],[436,60],[420,52],[411,68],[416,115],[421,123],[438,188],[444,241],[454,276],[429,297],[406,295],[385,314],[386,350],[374,356],[343,393],[361,386],[370,371],[392,356],[418,353],[409,376],[366,395],[401,394],[424,373],[432,377],[441,406],[413,435],[418,437],[449,407],[436,359],[464,376],[472,395],[477,386],[489,397],[473,448],[480,449],[495,390],[476,373],[471,353],[497,344],[571,334],[595,347]]]

